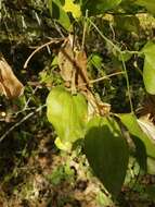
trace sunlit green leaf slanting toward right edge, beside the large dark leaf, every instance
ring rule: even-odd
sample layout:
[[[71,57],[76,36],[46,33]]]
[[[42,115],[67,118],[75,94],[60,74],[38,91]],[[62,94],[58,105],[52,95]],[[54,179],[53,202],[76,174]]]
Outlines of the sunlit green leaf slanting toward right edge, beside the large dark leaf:
[[[119,115],[119,118],[125,126],[128,129],[129,133],[143,143],[146,155],[151,158],[155,158],[155,143],[142,131],[135,115],[131,113],[126,113]]]

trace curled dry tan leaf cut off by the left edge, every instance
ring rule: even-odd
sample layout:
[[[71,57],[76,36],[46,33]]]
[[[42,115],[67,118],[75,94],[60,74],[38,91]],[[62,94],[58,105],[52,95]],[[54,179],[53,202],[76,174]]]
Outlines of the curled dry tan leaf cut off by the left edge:
[[[0,94],[4,94],[7,98],[16,98],[23,92],[23,84],[14,75],[11,66],[0,53]]]

